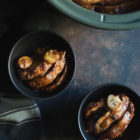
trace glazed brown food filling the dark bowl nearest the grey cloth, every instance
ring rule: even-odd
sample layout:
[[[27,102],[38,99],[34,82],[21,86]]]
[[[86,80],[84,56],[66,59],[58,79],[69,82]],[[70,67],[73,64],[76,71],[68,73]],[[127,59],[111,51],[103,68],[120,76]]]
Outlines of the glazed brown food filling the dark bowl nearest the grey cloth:
[[[66,76],[65,56],[63,50],[38,48],[33,56],[22,56],[17,60],[19,77],[35,90],[52,92]]]

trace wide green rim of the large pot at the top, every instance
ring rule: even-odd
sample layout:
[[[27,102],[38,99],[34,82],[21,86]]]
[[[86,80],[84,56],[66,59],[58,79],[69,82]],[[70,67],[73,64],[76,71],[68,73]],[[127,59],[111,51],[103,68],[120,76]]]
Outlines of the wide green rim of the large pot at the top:
[[[72,0],[47,1],[64,14],[92,27],[112,30],[128,30],[140,28],[140,19],[138,19],[140,10],[126,14],[111,15],[90,11],[72,2]]]

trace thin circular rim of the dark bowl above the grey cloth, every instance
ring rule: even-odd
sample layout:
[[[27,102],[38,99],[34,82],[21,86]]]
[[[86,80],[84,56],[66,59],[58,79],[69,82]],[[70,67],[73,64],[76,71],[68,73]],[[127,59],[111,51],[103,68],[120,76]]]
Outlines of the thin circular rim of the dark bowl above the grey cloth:
[[[40,96],[32,96],[32,95],[29,95],[27,93],[24,92],[24,90],[20,89],[18,87],[18,85],[16,84],[16,82],[13,80],[13,76],[12,76],[12,73],[11,73],[11,57],[14,53],[14,50],[15,48],[18,46],[18,44],[26,39],[27,37],[29,36],[32,36],[34,34],[37,34],[37,33],[49,33],[49,34],[52,34],[52,35],[55,35],[55,36],[58,36],[59,38],[61,38],[62,40],[64,40],[69,48],[71,49],[72,51],[72,54],[73,54],[73,58],[74,58],[74,61],[73,61],[73,73],[72,73],[72,76],[71,76],[71,79],[70,81],[68,82],[68,84],[66,85],[65,88],[63,88],[60,92],[58,92],[57,94],[53,95],[53,96],[49,96],[49,97],[40,97]],[[16,89],[22,93],[23,95],[27,96],[27,97],[30,97],[32,99],[39,99],[39,100],[51,100],[51,99],[54,99],[54,98],[57,98],[59,95],[63,94],[68,88],[69,86],[71,85],[73,79],[74,79],[74,76],[75,76],[75,72],[76,72],[76,56],[75,56],[75,52],[72,48],[72,46],[70,45],[70,43],[64,38],[62,37],[61,35],[57,34],[56,32],[53,32],[53,31],[49,31],[49,30],[38,30],[38,31],[32,31],[32,32],[29,32],[29,33],[26,33],[25,35],[23,35],[22,37],[20,37],[16,43],[13,45],[12,49],[11,49],[11,52],[9,54],[9,57],[8,57],[8,73],[9,73],[9,77],[10,77],[10,80],[11,82],[13,83],[13,85],[16,87]]]

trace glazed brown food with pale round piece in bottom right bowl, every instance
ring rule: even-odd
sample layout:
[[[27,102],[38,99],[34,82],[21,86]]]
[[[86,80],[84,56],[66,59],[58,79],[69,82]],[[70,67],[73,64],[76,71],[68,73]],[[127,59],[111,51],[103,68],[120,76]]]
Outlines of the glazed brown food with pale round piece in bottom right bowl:
[[[120,137],[134,117],[134,110],[128,96],[110,94],[107,99],[101,98],[85,107],[86,130],[101,140]]]

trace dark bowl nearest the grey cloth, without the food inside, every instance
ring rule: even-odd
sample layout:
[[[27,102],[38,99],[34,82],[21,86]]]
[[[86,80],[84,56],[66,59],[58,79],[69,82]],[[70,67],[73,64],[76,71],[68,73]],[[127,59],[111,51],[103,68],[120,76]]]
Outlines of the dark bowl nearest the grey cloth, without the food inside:
[[[25,82],[19,78],[15,63],[17,58],[27,55],[32,56],[37,48],[46,47],[48,45],[51,46],[52,49],[66,50],[67,74],[62,85],[55,90],[55,92],[37,92],[28,87]],[[9,56],[8,71],[12,83],[21,93],[32,98],[50,99],[63,93],[70,85],[75,72],[75,55],[71,46],[61,36],[50,31],[36,31],[25,35],[14,45]]]

